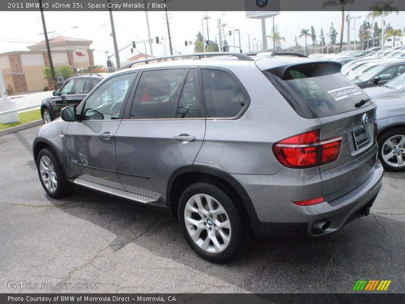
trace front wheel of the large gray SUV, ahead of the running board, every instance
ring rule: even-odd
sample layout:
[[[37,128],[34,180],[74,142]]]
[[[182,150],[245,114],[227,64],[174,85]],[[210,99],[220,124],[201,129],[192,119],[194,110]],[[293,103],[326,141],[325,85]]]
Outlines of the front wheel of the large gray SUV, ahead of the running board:
[[[74,186],[66,179],[58,159],[50,148],[39,151],[36,168],[39,180],[50,197],[63,198],[72,193]]]

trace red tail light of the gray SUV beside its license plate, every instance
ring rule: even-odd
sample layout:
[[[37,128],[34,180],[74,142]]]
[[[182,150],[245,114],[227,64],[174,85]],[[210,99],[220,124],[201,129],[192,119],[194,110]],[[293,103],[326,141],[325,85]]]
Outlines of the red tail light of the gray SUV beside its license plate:
[[[342,136],[319,140],[319,130],[315,130],[276,142],[273,152],[282,165],[304,169],[336,161],[341,145]]]

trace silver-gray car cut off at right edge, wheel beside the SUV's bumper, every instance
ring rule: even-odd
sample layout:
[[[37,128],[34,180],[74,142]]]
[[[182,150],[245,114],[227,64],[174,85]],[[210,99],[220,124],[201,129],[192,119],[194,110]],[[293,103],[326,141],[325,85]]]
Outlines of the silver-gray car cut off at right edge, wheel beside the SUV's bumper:
[[[375,99],[379,158],[385,170],[405,171],[405,95]]]

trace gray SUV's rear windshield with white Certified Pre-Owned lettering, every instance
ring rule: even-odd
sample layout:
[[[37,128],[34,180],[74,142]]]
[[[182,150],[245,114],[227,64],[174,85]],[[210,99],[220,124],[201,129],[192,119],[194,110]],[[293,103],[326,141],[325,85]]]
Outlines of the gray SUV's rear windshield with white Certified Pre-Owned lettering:
[[[313,66],[312,66],[313,67]],[[355,104],[369,97],[339,72],[320,75],[313,68],[306,73],[289,68],[293,79],[282,80],[274,71],[264,71],[274,87],[290,103],[298,115],[319,118],[355,110]],[[286,78],[284,78],[286,79]],[[367,106],[371,101],[363,106]]]

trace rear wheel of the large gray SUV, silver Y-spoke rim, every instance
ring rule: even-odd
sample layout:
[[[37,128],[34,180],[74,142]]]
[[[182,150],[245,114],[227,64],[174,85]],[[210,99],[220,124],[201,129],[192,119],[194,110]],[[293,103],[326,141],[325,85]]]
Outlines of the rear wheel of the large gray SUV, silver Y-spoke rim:
[[[244,240],[242,220],[220,188],[204,182],[188,186],[177,212],[184,238],[201,257],[223,263],[240,251]]]

